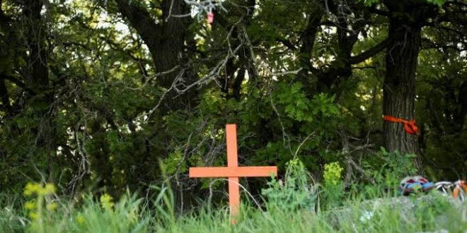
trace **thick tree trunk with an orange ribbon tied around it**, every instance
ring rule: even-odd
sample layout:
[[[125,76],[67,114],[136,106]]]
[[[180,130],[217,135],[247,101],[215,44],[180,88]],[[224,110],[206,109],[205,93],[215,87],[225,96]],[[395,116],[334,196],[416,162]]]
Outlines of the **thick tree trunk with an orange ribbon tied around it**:
[[[415,119],[415,78],[421,47],[421,28],[427,18],[439,12],[427,1],[383,0],[389,10],[389,45],[386,49],[383,114],[406,120]],[[401,123],[384,121],[384,146],[389,151],[419,154],[418,138],[405,132]],[[415,166],[421,170],[420,157]]]

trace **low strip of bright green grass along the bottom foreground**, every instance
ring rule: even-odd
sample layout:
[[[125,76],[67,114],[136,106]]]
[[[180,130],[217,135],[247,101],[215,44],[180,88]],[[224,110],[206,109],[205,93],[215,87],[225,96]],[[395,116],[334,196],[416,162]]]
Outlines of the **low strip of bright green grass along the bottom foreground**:
[[[36,197],[38,198],[38,197]],[[467,205],[437,193],[418,197],[384,197],[362,201],[352,197],[325,210],[290,209],[278,202],[264,210],[243,203],[236,225],[229,210],[201,208],[175,216],[168,189],[156,197],[160,205],[127,194],[113,203],[84,198],[81,204],[50,198],[57,208],[42,207],[40,218],[30,217],[38,209],[25,210],[16,198],[4,197],[0,210],[3,232],[466,232]],[[324,201],[324,200],[323,200]],[[9,204],[6,204],[8,203]],[[316,202],[316,205],[318,202]],[[323,203],[321,203],[323,205]],[[328,205],[332,206],[332,205]]]

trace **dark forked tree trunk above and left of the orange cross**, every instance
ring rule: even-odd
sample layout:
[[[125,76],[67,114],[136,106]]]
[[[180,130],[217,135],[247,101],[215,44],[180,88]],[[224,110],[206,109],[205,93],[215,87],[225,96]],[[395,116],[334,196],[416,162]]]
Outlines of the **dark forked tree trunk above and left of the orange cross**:
[[[195,82],[197,76],[188,65],[188,55],[185,52],[185,38],[188,35],[188,18],[175,17],[188,12],[188,6],[183,0],[162,1],[161,7],[163,15],[161,21],[154,22],[146,9],[136,6],[132,1],[116,0],[118,9],[129,21],[132,27],[137,30],[142,40],[149,48],[154,66],[157,72],[171,71],[166,75],[159,76],[157,83],[162,88],[170,90],[175,78],[178,78],[181,72],[180,83],[190,85]],[[176,68],[178,66],[178,68]],[[187,67],[185,67],[187,66]],[[175,68],[175,69],[174,69]],[[178,86],[183,89],[183,86]],[[189,109],[196,101],[197,88],[181,93],[172,89],[167,93],[163,102],[163,112],[170,110]]]

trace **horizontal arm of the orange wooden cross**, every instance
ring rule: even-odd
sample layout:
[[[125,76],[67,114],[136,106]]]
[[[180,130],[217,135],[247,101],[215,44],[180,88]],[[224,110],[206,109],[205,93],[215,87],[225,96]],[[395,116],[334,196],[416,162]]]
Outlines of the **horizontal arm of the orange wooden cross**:
[[[190,167],[190,177],[270,177],[277,167]]]

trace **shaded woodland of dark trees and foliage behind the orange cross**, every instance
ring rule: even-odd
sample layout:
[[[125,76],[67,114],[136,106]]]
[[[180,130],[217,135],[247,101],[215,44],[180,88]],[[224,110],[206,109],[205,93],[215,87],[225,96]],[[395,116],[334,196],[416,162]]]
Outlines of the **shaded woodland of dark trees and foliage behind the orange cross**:
[[[337,161],[347,186],[466,178],[466,1],[228,0],[211,25],[190,17],[208,3],[0,0],[1,191],[169,180],[183,210],[210,184],[188,167],[226,165],[226,123],[241,165],[297,156],[320,181]]]

